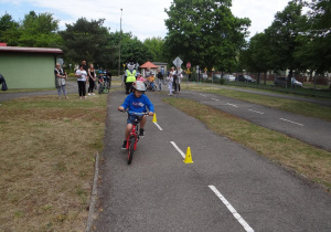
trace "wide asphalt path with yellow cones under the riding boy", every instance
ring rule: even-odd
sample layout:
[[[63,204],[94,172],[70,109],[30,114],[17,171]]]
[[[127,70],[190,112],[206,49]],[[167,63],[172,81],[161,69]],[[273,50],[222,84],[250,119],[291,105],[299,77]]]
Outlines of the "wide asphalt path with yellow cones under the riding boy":
[[[108,96],[96,231],[331,231],[331,198],[197,119],[153,102],[132,164],[120,149],[124,91]],[[160,128],[162,129],[160,129]],[[191,148],[193,164],[182,155]]]

